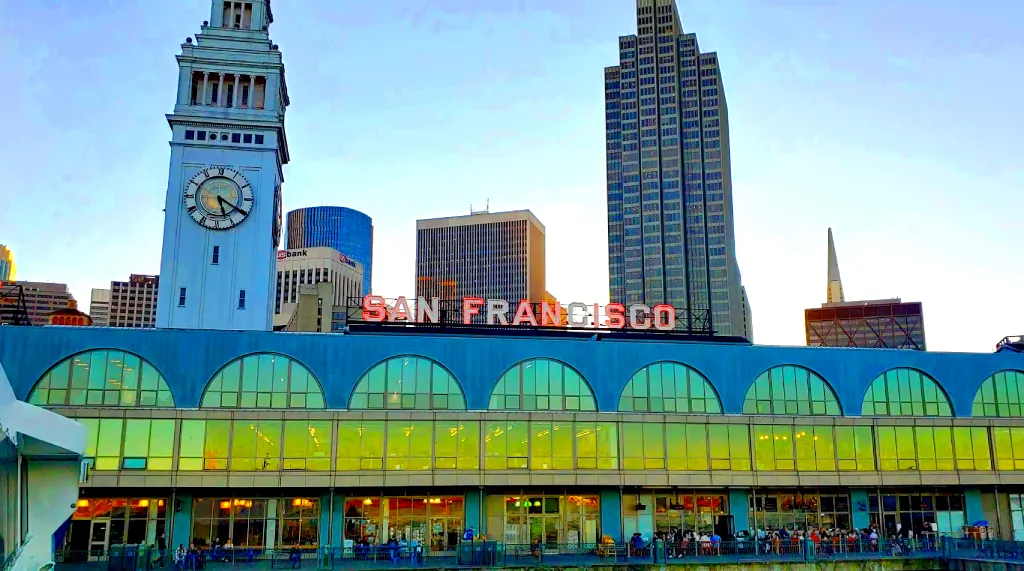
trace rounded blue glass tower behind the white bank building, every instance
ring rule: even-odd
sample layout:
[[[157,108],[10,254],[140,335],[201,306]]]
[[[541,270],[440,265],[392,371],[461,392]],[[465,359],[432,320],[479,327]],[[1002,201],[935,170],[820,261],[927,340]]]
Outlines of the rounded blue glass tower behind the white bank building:
[[[344,207],[309,207],[288,213],[289,250],[333,248],[362,267],[362,293],[370,294],[374,267],[374,221]]]

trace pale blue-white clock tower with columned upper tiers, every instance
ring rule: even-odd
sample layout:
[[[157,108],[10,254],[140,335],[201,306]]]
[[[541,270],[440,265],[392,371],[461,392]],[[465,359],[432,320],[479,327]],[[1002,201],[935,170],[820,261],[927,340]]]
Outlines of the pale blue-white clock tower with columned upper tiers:
[[[270,0],[212,0],[181,44],[171,127],[157,326],[270,331],[281,185],[288,164],[285,65]]]

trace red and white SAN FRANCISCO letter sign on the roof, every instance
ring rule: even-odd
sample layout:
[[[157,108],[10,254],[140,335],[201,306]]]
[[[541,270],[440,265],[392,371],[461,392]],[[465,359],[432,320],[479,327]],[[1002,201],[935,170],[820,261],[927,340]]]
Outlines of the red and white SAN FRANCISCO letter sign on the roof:
[[[362,298],[360,316],[372,323],[425,323],[457,322],[464,325],[508,325],[543,327],[599,327],[609,330],[659,330],[676,328],[676,308],[659,304],[653,307],[637,303],[627,307],[621,303],[606,305],[573,302],[562,306],[559,302],[531,303],[521,300],[463,298],[454,302],[439,298],[406,297],[386,300],[382,296]],[[458,315],[453,321],[452,314]]]

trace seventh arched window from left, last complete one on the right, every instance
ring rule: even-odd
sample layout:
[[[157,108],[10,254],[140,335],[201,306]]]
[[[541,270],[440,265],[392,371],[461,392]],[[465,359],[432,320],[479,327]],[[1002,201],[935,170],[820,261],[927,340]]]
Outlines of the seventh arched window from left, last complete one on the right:
[[[949,398],[934,379],[912,368],[894,368],[876,379],[864,395],[864,416],[952,416]]]

